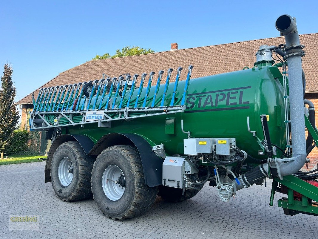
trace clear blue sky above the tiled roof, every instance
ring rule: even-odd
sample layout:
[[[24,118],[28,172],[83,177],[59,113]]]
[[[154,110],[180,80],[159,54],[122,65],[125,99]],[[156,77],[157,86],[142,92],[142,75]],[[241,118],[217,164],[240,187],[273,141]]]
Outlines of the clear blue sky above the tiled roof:
[[[291,0],[0,0],[0,68],[12,64],[18,101],[60,72],[125,46],[160,52],[174,42],[183,49],[278,37],[282,14],[296,17],[300,34],[317,33],[317,8],[318,1]]]

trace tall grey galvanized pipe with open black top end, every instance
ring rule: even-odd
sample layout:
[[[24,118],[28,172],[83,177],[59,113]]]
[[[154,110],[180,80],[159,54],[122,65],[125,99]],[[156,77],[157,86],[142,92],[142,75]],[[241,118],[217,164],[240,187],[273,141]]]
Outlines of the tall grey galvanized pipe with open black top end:
[[[280,166],[281,175],[291,175],[302,168],[306,161],[305,119],[303,101],[303,83],[301,50],[296,19],[282,15],[276,20],[276,29],[285,36],[286,59],[288,62],[290,123],[292,134],[292,150],[294,161]]]

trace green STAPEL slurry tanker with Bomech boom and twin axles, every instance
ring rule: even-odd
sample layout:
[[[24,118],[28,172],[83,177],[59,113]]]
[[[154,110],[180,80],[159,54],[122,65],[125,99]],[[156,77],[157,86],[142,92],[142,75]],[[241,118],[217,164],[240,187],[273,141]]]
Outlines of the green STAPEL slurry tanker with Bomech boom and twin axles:
[[[318,141],[304,46],[295,18],[280,16],[276,28],[285,44],[255,49],[251,69],[190,80],[189,66],[183,81],[179,67],[174,82],[168,69],[40,89],[29,114],[31,130],[52,140],[45,182],[64,201],[93,195],[107,217],[123,220],[157,195],[190,199],[209,181],[227,202],[269,177],[270,206],[280,192],[285,214],[318,215],[317,170],[301,171]]]

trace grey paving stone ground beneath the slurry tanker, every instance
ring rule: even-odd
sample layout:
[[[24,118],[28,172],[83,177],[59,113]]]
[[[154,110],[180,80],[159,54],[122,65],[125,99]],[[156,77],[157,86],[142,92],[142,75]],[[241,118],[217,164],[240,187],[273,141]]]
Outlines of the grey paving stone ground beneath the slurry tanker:
[[[221,202],[208,184],[192,199],[169,203],[157,198],[136,218],[106,218],[93,199],[63,202],[44,183],[45,162],[0,166],[0,238],[318,238],[318,218],[286,216],[277,200],[268,206],[268,187],[242,189]],[[39,230],[9,230],[12,214],[39,215]]]

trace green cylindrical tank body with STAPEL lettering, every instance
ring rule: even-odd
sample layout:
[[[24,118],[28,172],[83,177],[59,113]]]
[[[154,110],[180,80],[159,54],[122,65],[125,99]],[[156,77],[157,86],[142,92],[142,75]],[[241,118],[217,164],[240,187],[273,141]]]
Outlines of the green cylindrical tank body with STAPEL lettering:
[[[257,152],[263,150],[257,139],[263,139],[259,115],[269,115],[271,140],[281,148],[285,147],[285,124],[277,126],[277,122],[284,121],[284,114],[275,111],[275,106],[280,105],[281,112],[284,112],[283,87],[273,76],[271,68],[273,67],[265,66],[192,79],[186,96],[185,112],[171,115],[175,117],[175,134],[165,134],[165,115],[143,117],[129,122],[117,120],[112,122],[111,128],[98,128],[97,123],[85,125],[83,128],[73,126],[68,127],[68,131],[71,134],[91,135],[97,140],[113,132],[137,133],[156,144],[164,144],[166,153],[174,155],[183,154],[183,139],[187,138],[187,134],[181,131],[181,119],[183,119],[184,130],[190,131],[191,137],[233,137],[236,138],[238,147],[249,155],[266,159],[266,156],[258,156]],[[184,84],[185,81],[179,82],[176,104],[182,98]],[[165,105],[169,105],[171,101],[173,87],[173,84],[168,87]],[[164,85],[160,85],[159,99],[162,98],[163,91]],[[142,107],[146,93],[146,91],[141,93],[138,107]],[[150,96],[154,94],[155,87],[151,87],[146,107],[151,106]],[[127,95],[129,96],[130,92],[127,92],[123,102],[128,100]],[[136,96],[135,91],[132,99]],[[100,99],[97,104],[99,101]],[[80,104],[83,103],[82,99]],[[134,105],[135,102],[132,100],[132,107]],[[156,105],[160,105],[160,100]],[[92,105],[89,108],[91,109]],[[257,137],[253,137],[247,130],[247,116],[250,117],[250,128],[256,131]]]

